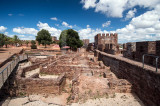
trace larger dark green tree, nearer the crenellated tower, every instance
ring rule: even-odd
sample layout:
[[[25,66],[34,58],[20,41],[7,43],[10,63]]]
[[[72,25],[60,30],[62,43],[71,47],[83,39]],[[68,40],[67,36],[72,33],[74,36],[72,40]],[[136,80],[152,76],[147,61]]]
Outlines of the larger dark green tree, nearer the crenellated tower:
[[[59,46],[70,46],[72,50],[77,50],[83,46],[83,42],[80,40],[79,35],[73,29],[64,30],[59,37]]]

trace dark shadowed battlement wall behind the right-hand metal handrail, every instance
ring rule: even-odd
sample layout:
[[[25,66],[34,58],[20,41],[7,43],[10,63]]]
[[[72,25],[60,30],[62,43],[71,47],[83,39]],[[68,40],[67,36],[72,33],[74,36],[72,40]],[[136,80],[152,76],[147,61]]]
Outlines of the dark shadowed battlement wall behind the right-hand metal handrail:
[[[129,42],[123,44],[124,57],[142,62],[144,54],[160,56],[160,41]],[[155,57],[145,56],[144,62],[155,66]]]

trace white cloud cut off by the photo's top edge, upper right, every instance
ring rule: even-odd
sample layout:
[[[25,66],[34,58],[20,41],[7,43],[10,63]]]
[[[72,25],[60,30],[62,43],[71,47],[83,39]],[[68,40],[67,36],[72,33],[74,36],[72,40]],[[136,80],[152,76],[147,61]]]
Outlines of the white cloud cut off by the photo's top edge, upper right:
[[[81,0],[83,8],[95,8],[109,17],[123,17],[123,12],[135,6],[155,8],[160,0]]]

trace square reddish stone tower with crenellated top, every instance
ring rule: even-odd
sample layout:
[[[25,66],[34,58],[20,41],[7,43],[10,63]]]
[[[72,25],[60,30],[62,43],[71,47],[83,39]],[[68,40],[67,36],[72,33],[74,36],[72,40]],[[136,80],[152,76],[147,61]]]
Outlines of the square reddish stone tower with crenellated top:
[[[110,54],[119,53],[118,34],[117,33],[115,34],[103,33],[102,35],[97,34],[95,36],[95,49]]]

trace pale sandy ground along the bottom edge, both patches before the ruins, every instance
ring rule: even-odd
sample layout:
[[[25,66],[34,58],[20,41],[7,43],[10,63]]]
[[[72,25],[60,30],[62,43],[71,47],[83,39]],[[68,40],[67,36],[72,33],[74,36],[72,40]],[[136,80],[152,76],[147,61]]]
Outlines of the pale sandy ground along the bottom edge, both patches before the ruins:
[[[8,101],[8,106],[58,106],[66,104],[67,93],[53,97],[30,95],[29,97],[14,98]],[[7,101],[6,101],[7,102]],[[6,104],[5,102],[5,104]],[[71,106],[144,106],[131,93],[116,93],[115,97],[89,99],[85,103],[72,103]],[[5,105],[2,105],[5,106]],[[68,105],[69,106],[69,105]]]

